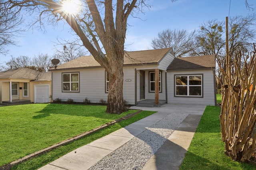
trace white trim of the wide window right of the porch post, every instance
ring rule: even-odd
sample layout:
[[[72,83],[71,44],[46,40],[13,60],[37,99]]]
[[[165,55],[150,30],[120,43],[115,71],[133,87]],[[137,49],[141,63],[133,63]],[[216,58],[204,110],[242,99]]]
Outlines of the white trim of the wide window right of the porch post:
[[[176,77],[184,77],[187,76],[187,85],[176,85]],[[190,85],[189,84],[189,77],[190,76],[201,76],[201,84],[197,84],[197,85]],[[203,74],[188,74],[188,75],[175,75],[175,96],[176,97],[202,97],[203,96]],[[176,87],[183,87],[183,86],[187,86],[187,95],[177,95],[177,88]],[[201,95],[189,95],[189,87],[201,87]]]

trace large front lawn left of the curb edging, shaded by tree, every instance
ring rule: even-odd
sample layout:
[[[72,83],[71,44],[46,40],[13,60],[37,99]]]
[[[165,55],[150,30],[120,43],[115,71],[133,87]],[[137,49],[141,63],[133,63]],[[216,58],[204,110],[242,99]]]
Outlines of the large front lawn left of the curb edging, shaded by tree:
[[[70,104],[0,107],[0,166],[135,112],[105,111],[106,106]]]

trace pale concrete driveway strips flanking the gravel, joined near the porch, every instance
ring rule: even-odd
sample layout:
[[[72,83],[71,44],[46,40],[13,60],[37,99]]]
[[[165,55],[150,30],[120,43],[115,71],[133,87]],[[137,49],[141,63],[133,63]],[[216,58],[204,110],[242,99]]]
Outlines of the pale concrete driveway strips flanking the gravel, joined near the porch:
[[[80,147],[61,158],[40,168],[40,170],[87,170],[106,155],[130,141],[166,117],[170,113],[187,113],[188,116],[180,123],[164,144],[146,163],[143,170],[178,170],[194,136],[206,106],[165,104],[161,107],[131,107],[148,111],[158,111],[88,145]],[[121,162],[120,162],[121,163]]]

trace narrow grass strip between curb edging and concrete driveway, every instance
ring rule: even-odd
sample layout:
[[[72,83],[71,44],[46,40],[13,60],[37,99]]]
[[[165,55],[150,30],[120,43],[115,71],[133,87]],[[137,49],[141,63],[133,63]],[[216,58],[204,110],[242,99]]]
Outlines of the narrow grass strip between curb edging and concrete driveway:
[[[153,113],[156,113],[156,112],[155,111],[142,111],[141,113],[139,113],[129,119],[126,119],[124,121],[116,123],[110,127],[106,127],[105,129],[101,129],[100,131],[97,131],[97,132],[90,134],[86,137],[78,139],[77,141],[68,143],[67,145],[61,146],[57,149],[51,150],[50,152],[47,152],[40,156],[36,156],[35,158],[33,158],[31,160],[22,162],[21,164],[14,166],[12,168],[12,170],[35,170],[35,169],[38,169],[38,168],[56,160],[57,158],[60,158],[64,154],[67,154],[68,152],[71,152],[72,150],[77,149],[78,147],[82,147],[92,141],[95,141],[96,139],[104,137],[105,135],[108,135],[118,129],[121,129],[122,127],[125,127],[131,123],[134,123],[134,122],[136,122],[144,117],[147,117]]]

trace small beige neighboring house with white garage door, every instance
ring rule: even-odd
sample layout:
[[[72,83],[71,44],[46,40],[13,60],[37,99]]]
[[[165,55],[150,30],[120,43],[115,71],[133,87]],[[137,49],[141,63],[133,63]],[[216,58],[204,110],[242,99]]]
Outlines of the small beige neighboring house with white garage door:
[[[17,68],[0,72],[0,103],[49,102],[51,72]]]

